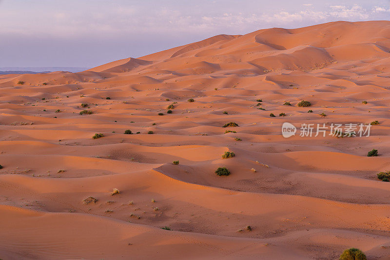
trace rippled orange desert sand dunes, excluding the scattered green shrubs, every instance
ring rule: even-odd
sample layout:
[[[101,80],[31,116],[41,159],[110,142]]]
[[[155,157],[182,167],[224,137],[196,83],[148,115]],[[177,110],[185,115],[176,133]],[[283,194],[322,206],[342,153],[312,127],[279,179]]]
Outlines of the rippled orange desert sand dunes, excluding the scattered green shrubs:
[[[390,21],[340,21],[0,75],[0,259],[390,259],[389,39]]]

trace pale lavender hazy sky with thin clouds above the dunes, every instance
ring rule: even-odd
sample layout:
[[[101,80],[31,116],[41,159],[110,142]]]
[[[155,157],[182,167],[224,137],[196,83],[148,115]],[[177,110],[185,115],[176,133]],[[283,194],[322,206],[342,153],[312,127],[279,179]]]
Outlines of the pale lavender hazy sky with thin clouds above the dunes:
[[[0,67],[95,67],[336,20],[390,20],[390,0],[0,0]]]

